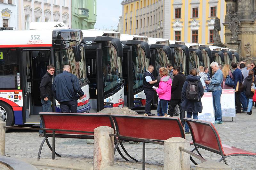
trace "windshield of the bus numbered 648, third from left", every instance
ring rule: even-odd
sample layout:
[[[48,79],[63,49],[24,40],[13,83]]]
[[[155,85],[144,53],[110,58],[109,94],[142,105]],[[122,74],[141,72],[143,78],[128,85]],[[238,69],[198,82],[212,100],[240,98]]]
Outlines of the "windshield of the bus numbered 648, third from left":
[[[146,58],[144,50],[139,44],[132,45],[132,79],[133,94],[143,88],[143,76],[149,66],[149,59]]]

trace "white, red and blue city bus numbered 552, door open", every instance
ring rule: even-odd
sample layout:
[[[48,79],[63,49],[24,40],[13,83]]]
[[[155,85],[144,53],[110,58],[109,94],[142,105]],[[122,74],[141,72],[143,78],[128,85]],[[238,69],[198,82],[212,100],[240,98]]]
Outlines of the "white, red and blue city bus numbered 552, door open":
[[[70,65],[83,91],[88,88],[84,68],[83,33],[77,29],[63,29],[56,22],[47,23],[53,29],[0,31],[0,120],[6,126],[40,123],[42,111],[39,85],[49,64],[55,74]],[[31,23],[33,25],[33,23]],[[47,27],[47,28],[48,28]],[[88,110],[86,93],[78,100],[78,112]],[[53,100],[52,111],[60,112]]]

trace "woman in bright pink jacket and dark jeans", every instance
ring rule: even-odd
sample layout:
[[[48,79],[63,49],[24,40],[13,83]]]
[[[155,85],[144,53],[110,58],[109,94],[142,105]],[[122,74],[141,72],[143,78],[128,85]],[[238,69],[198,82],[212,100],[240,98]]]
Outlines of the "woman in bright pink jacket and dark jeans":
[[[167,105],[171,99],[172,80],[168,74],[168,69],[164,68],[163,72],[161,73],[162,78],[159,83],[159,88],[156,89],[158,97],[160,98],[156,110],[158,116],[164,116],[165,114],[167,115]]]

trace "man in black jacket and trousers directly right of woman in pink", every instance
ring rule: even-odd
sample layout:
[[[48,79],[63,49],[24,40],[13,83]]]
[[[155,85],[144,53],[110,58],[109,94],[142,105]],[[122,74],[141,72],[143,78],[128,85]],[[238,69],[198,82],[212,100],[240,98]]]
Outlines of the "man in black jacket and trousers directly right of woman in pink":
[[[178,104],[180,109],[180,121],[184,126],[185,111],[182,110],[182,108],[180,107],[180,102],[181,102],[181,91],[182,91],[183,84],[186,80],[186,76],[180,72],[180,67],[175,66],[172,69],[173,69],[174,77],[172,81],[172,92],[171,92],[171,100],[170,100],[168,115],[173,117],[174,108]]]

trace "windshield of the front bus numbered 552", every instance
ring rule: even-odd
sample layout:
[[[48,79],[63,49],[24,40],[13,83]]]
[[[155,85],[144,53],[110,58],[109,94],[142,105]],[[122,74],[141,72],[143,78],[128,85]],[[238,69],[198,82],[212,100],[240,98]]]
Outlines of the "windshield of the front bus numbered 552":
[[[81,32],[62,32],[61,39],[73,39],[77,41],[82,41],[83,37]],[[58,44],[67,42],[59,41]],[[63,71],[64,65],[68,64],[71,67],[71,73],[76,75],[79,80],[80,85],[85,82],[86,69],[84,62],[84,48],[81,46],[80,51],[82,55],[82,60],[76,62],[72,46],[76,46],[76,42],[72,41],[64,45],[57,45],[54,48],[55,60],[56,60],[56,75]]]

